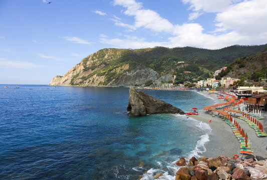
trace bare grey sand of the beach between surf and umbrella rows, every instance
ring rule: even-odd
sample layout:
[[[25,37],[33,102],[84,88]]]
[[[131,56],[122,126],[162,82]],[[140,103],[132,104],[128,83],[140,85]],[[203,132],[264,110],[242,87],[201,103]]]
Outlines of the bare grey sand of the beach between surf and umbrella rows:
[[[204,92],[200,92],[204,93]],[[223,99],[217,99],[217,94],[207,94],[212,97],[217,103],[224,102]],[[266,112],[262,113],[266,118]],[[209,141],[204,144],[206,151],[200,153],[203,157],[215,157],[219,155],[225,155],[232,157],[234,154],[240,154],[240,144],[238,139],[234,136],[231,127],[225,123],[220,117],[213,117],[210,114],[205,113],[204,110],[198,111],[198,115],[188,115],[196,120],[200,120],[209,124],[211,132],[208,133]],[[211,119],[211,122],[209,122]],[[261,122],[264,124],[266,120]],[[254,129],[242,120],[238,120],[238,123],[242,126],[245,132],[248,133],[248,139],[252,142],[253,155],[260,155],[267,157],[267,136],[257,137]]]

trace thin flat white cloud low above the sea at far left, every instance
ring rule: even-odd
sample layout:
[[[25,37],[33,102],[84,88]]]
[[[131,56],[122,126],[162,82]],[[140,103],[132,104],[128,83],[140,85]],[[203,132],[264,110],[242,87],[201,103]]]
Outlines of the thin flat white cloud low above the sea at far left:
[[[33,68],[33,67],[42,67],[42,65],[35,64],[32,62],[23,62],[23,61],[8,60],[6,58],[0,58],[0,67]]]

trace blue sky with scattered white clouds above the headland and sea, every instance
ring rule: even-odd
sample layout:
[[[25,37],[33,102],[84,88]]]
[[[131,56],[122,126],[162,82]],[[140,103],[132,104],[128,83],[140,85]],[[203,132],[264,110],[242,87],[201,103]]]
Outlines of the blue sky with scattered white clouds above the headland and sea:
[[[102,48],[265,44],[266,17],[266,0],[0,0],[0,84],[49,84]]]

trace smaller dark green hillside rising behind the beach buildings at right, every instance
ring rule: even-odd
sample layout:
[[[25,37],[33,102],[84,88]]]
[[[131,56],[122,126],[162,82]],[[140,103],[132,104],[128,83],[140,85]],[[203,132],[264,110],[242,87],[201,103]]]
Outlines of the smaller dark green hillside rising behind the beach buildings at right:
[[[216,78],[220,79],[224,76],[232,76],[240,79],[237,85],[251,85],[253,82],[255,85],[262,85],[263,81],[261,79],[265,78],[266,73],[267,48],[258,52],[256,55],[236,58],[224,71],[221,71]]]

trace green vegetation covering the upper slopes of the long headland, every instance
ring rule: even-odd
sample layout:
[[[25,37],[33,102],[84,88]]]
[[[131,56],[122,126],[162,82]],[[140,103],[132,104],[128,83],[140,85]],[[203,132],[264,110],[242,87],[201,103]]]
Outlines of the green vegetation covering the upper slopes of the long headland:
[[[179,61],[195,65],[189,65],[187,68],[174,72],[177,74],[177,81],[206,78],[210,77],[210,71],[214,71],[224,64],[232,62],[237,57],[248,56],[249,54],[254,55],[264,47],[267,47],[267,44],[254,46],[233,45],[217,50],[195,47],[105,48],[89,55],[80,62],[84,66],[84,72],[92,72],[87,76],[79,76],[79,74],[73,76],[71,85],[86,85],[88,80],[95,74],[97,76],[105,76],[105,80],[100,84],[107,85],[111,80],[122,76],[126,71],[133,70],[139,64],[150,67],[158,73],[172,73],[172,67],[177,66]],[[90,63],[88,64],[89,58]],[[120,71],[114,70],[125,64],[129,64],[129,68]],[[240,66],[242,67],[242,65],[241,62]],[[188,68],[194,69],[190,70]],[[182,71],[191,71],[192,73],[183,75]],[[187,76],[189,77],[188,79],[186,78]]]

